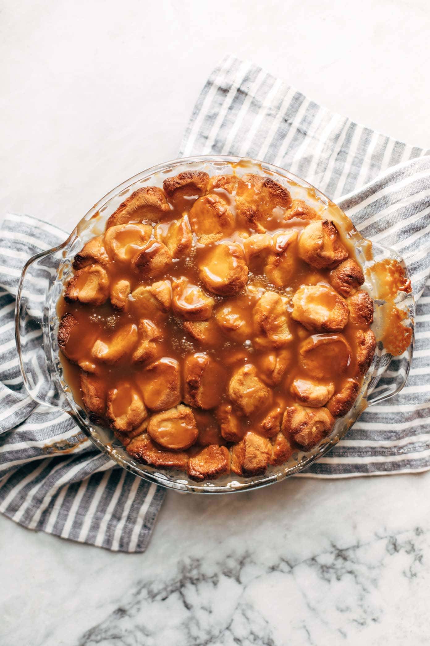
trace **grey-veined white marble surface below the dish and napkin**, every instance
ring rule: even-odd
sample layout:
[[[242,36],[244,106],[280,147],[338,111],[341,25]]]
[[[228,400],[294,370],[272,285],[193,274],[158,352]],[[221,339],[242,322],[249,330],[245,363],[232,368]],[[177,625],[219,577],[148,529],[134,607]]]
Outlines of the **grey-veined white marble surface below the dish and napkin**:
[[[145,554],[0,517],[0,643],[428,644],[430,474],[171,492]]]

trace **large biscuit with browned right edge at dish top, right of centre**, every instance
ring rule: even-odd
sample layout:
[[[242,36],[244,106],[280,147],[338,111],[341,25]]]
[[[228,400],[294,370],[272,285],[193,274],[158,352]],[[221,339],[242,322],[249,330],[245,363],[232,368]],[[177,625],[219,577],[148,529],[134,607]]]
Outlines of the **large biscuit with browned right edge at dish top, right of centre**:
[[[289,191],[269,177],[246,174],[236,187],[236,211],[257,233],[265,233],[274,216],[274,209],[291,206]]]

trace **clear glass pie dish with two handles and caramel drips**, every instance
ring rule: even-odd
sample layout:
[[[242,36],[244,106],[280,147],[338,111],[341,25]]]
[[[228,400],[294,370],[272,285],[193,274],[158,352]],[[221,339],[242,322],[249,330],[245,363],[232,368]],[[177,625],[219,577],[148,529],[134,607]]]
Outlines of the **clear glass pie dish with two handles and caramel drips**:
[[[372,329],[378,343],[353,408],[337,419],[333,430],[317,446],[309,451],[295,451],[287,463],[271,466],[263,475],[242,477],[231,473],[222,475],[215,482],[195,483],[181,472],[161,470],[133,459],[115,439],[112,430],[90,421],[86,410],[73,398],[60,360],[57,302],[64,284],[72,276],[74,256],[90,238],[103,233],[108,218],[136,189],[160,186],[166,178],[184,171],[204,171],[212,176],[231,174],[233,170],[239,176],[249,172],[270,176],[286,187],[293,199],[306,200],[311,207],[335,222],[340,233],[353,245],[364,271],[366,280],[363,287],[373,298],[375,306]],[[301,472],[344,437],[364,408],[400,391],[411,365],[414,317],[413,294],[404,260],[392,249],[371,244],[362,238],[349,218],[324,194],[288,171],[261,161],[204,156],[167,162],[127,180],[99,200],[63,244],[30,258],[19,284],[15,331],[24,385],[35,401],[70,414],[99,450],[133,474],[179,492],[219,494],[269,485]],[[397,339],[393,339],[393,328],[398,331]],[[40,331],[43,342],[35,344],[34,339]],[[387,375],[390,350],[398,356],[396,370]]]

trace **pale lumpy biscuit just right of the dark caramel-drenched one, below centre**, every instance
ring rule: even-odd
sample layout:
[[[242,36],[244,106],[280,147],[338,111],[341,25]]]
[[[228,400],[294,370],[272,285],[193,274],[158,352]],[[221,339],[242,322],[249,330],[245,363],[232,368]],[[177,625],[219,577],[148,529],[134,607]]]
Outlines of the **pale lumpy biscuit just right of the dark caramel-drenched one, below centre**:
[[[244,415],[251,415],[271,401],[271,390],[259,379],[257,368],[246,364],[233,373],[228,384],[228,397]]]

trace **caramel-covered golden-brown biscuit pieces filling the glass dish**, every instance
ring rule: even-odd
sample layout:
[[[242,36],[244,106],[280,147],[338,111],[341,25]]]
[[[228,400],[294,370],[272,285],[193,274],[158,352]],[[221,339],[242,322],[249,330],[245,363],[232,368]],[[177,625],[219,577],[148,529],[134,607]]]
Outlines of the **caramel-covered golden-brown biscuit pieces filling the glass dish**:
[[[355,259],[347,240],[324,242],[328,255],[337,245],[333,262],[318,256],[318,241],[306,249],[318,258],[312,266],[297,241],[320,214],[268,178],[208,180],[166,186],[168,211],[121,205],[110,217],[118,233],[108,229],[99,255],[78,255],[84,268],[75,262],[81,269],[57,306],[75,399],[133,457],[196,480],[230,468],[260,474],[317,444],[353,405],[375,350],[371,318],[345,323],[349,299],[332,286],[331,272]],[[94,297],[101,305],[79,300],[92,266],[107,275],[106,296]],[[360,284],[346,289],[353,296]]]

